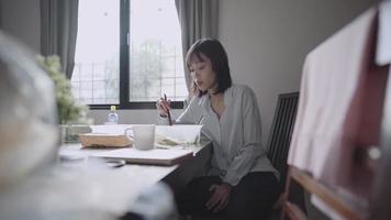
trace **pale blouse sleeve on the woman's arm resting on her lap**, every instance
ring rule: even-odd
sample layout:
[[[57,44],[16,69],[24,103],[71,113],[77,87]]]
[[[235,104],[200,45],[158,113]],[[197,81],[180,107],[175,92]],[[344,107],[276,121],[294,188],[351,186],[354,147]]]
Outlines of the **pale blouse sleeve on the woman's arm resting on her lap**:
[[[230,164],[223,182],[235,186],[248,174],[255,160],[265,155],[261,144],[261,123],[256,96],[248,87],[243,92],[243,138],[244,144]]]

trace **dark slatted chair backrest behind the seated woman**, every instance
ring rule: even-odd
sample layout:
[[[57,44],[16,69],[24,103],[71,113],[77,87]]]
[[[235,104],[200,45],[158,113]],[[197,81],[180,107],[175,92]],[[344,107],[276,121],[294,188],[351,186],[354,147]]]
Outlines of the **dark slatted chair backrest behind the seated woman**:
[[[299,92],[280,94],[268,139],[268,157],[280,173],[281,186],[287,179],[287,158],[298,111]]]

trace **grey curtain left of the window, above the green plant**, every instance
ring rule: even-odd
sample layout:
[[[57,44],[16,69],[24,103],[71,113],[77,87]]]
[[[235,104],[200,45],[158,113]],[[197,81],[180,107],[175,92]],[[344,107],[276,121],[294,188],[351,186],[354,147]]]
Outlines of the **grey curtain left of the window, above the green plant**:
[[[58,55],[70,79],[75,66],[78,0],[41,0],[41,53]]]

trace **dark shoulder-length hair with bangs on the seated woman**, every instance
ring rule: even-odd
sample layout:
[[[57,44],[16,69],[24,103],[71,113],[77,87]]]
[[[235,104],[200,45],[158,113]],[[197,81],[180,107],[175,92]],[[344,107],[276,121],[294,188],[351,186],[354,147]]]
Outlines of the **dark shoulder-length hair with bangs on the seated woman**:
[[[224,92],[232,86],[230,74],[228,57],[223,45],[214,38],[201,38],[189,48],[186,55],[186,64],[190,67],[190,59],[193,55],[201,62],[204,62],[202,55],[206,56],[212,64],[212,69],[216,73],[217,90],[216,94]],[[192,91],[202,97],[206,91],[201,91],[197,88],[196,82],[192,82]]]

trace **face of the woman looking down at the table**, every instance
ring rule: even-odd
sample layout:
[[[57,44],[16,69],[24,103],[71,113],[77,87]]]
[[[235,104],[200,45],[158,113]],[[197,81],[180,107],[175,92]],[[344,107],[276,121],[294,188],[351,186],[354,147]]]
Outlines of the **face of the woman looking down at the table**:
[[[213,91],[217,88],[216,73],[212,69],[211,59],[203,54],[200,55],[203,61],[200,61],[194,54],[190,57],[189,70],[201,91]]]

